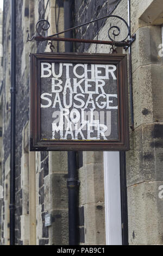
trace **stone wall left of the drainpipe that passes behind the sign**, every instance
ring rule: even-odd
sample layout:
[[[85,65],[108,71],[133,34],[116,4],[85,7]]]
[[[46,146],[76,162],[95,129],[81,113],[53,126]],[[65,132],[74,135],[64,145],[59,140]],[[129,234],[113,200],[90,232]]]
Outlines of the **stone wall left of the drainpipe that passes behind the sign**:
[[[35,33],[40,19],[54,20],[55,1],[19,1],[16,5],[16,245],[68,244],[68,217],[66,178],[67,165],[62,162],[63,153],[29,153],[29,53],[49,51],[47,42],[27,42],[28,33]],[[58,5],[57,5],[58,8]],[[60,9],[60,24],[63,8]],[[60,29],[64,29],[61,25]],[[54,33],[53,27],[49,33]],[[10,1],[4,0],[4,58],[3,58],[3,200],[2,244],[9,244],[10,203]],[[62,44],[60,45],[60,49]],[[55,160],[55,161],[54,161]],[[62,170],[56,169],[56,161]],[[49,166],[49,162],[51,166]],[[33,177],[33,178],[32,178]],[[34,182],[35,181],[35,182]],[[58,185],[58,190],[56,186]],[[53,191],[54,190],[54,191]],[[63,190],[63,191],[62,191]],[[63,193],[61,201],[56,199]],[[64,202],[63,202],[64,201]],[[63,208],[63,210],[60,210]],[[61,212],[60,212],[61,211]],[[45,227],[45,215],[52,214],[52,226]],[[56,228],[57,227],[57,228]],[[56,231],[58,230],[58,231]],[[62,231],[61,231],[62,230]],[[60,233],[60,235],[59,235]]]

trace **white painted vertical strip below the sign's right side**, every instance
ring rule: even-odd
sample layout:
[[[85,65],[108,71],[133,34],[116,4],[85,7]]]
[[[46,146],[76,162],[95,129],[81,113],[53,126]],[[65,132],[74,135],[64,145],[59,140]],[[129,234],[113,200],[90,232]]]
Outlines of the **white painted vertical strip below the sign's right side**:
[[[120,152],[104,152],[106,245],[122,245]]]

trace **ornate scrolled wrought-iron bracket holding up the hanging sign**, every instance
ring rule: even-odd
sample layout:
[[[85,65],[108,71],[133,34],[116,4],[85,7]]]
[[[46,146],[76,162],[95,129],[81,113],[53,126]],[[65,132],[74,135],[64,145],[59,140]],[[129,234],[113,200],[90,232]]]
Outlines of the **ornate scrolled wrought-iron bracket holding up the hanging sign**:
[[[121,20],[124,25],[127,27],[127,35],[126,37],[121,40],[121,41],[116,41],[115,38],[117,36],[119,36],[121,34],[121,28],[118,26],[111,26],[109,28],[108,31],[108,36],[110,41],[102,41],[102,40],[87,40],[87,39],[76,39],[76,38],[59,38],[58,35],[66,33],[68,31],[74,30],[74,29],[78,29],[80,27],[86,26],[90,23],[99,21],[99,20],[103,20],[106,18],[114,18],[114,19],[119,19]],[[83,43],[90,43],[90,44],[105,44],[105,45],[111,45],[112,49],[116,47],[124,47],[125,49],[127,49],[136,39],[136,36],[131,36],[131,38],[129,38],[130,36],[130,26],[128,25],[128,23],[126,22],[126,20],[124,20],[122,17],[120,16],[116,16],[116,15],[107,15],[104,17],[101,17],[99,19],[96,20],[92,20],[86,23],[83,23],[82,25],[73,27],[73,28],[69,28],[66,29],[65,31],[53,34],[53,35],[49,35],[49,36],[45,36],[42,34],[45,33],[46,31],[48,31],[50,27],[50,23],[47,20],[40,20],[36,23],[36,33],[35,35],[32,36],[32,38],[29,39],[29,34],[28,34],[28,39],[27,41],[32,41],[33,39],[36,41],[71,41],[71,42],[83,42]],[[114,37],[114,39],[113,39]],[[127,40],[127,38],[129,38]],[[52,49],[51,49],[52,50]]]

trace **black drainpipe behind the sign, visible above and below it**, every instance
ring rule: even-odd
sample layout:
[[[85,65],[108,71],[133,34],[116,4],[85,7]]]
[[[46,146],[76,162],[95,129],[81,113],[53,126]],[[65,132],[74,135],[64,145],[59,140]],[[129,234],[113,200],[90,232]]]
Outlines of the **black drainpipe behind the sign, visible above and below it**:
[[[65,29],[72,28],[73,0],[64,0]],[[65,33],[65,38],[73,38],[72,31]],[[73,43],[65,42],[65,52],[73,52]],[[68,226],[69,245],[78,245],[78,173],[77,152],[68,151]]]

